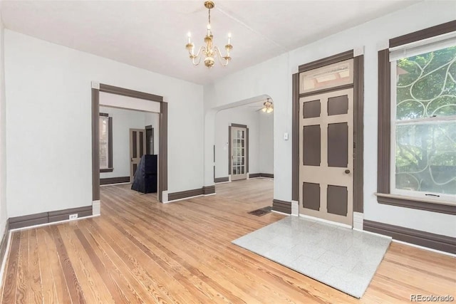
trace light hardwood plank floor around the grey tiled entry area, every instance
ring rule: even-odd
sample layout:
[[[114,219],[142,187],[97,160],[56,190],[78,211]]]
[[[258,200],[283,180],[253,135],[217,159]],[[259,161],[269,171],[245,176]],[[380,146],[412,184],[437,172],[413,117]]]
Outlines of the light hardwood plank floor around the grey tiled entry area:
[[[408,303],[455,295],[456,258],[392,243],[361,300],[230,243],[282,219],[272,182],[170,204],[101,188],[101,214],[12,234],[2,303]]]

